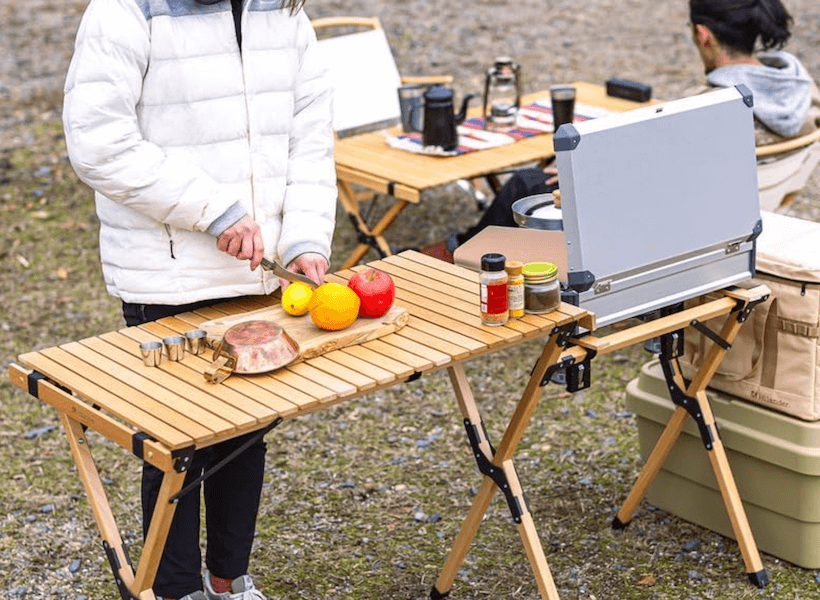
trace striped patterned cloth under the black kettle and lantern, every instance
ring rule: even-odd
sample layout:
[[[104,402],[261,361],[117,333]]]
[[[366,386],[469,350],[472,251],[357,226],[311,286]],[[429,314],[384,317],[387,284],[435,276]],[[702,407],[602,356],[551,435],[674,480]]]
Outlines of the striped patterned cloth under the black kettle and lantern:
[[[576,104],[575,122],[588,121],[610,112],[596,106]],[[455,150],[445,151],[439,146],[424,146],[421,143],[421,133],[415,132],[402,133],[398,136],[388,135],[387,143],[399,150],[431,156],[456,156],[475,150],[513,144],[520,139],[553,132],[552,102],[549,98],[541,98],[532,104],[522,106],[516,116],[515,127],[512,129],[505,131],[485,129],[486,122],[483,117],[473,117],[459,125],[458,147]]]

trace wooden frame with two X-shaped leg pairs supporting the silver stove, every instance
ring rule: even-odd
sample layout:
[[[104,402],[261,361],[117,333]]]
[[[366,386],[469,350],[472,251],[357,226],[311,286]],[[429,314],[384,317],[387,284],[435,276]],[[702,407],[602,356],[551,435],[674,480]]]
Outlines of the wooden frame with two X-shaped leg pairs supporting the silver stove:
[[[527,387],[507,425],[498,449],[494,449],[487,439],[481,414],[467,385],[462,367],[456,365],[449,368],[459,408],[464,417],[467,437],[473,449],[478,470],[484,475],[484,479],[453,543],[447,561],[430,592],[430,598],[440,600],[449,595],[458,569],[489,508],[490,500],[496,489],[500,489],[506,497],[513,522],[521,536],[541,596],[547,600],[558,600],[558,590],[538,540],[538,533],[527,506],[521,482],[515,471],[513,454],[535,411],[543,387],[552,379],[556,369],[566,370],[569,391],[582,389],[590,383],[590,363],[595,356],[615,352],[659,336],[662,338],[663,347],[661,362],[664,365],[664,374],[672,400],[677,408],[624,505],[618,511],[612,526],[615,529],[622,529],[629,523],[647,488],[672,450],[687,416],[691,416],[701,432],[704,447],[709,454],[712,468],[719,482],[749,579],[758,587],[763,587],[768,583],[768,575],[763,568],[723,443],[715,427],[715,420],[706,396],[706,387],[724,355],[731,348],[732,341],[751,310],[768,298],[769,289],[766,286],[756,286],[748,290],[732,288],[721,290],[721,294],[722,297],[706,304],[681,309],[654,321],[641,323],[600,338],[592,335],[577,336],[574,324],[557,327],[550,334],[530,374]],[[705,321],[725,315],[728,315],[728,318],[719,333],[713,332],[704,325]],[[709,353],[695,377],[688,384],[683,380],[675,360],[682,352],[682,335],[687,326],[696,328],[712,341]]]

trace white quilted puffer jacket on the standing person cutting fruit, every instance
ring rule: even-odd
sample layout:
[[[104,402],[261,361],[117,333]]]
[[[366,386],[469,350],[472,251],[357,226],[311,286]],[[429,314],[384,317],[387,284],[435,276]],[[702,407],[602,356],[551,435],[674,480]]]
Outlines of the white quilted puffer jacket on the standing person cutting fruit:
[[[245,0],[242,51],[229,0],[91,0],[63,122],[96,191],[108,291],[185,304],[270,293],[278,278],[216,248],[240,206],[285,264],[330,257],[336,188],[331,90],[304,11]]]

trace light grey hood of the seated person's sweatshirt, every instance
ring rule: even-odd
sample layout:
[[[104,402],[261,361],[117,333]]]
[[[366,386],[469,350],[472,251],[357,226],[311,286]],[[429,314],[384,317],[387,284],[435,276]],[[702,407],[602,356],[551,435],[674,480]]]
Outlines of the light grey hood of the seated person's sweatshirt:
[[[754,95],[754,115],[783,137],[794,137],[806,122],[811,105],[812,78],[788,52],[760,54],[758,65],[726,65],[706,76],[718,87],[744,84]]]

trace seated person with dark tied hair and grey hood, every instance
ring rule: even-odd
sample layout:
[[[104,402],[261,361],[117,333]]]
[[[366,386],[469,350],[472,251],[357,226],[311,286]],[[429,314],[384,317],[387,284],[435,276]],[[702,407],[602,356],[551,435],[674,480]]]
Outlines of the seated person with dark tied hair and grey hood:
[[[800,61],[781,49],[792,23],[781,0],[689,0],[689,19],[707,83],[693,93],[746,85],[754,95],[758,146],[820,127],[817,85]],[[755,54],[758,40],[763,52]],[[450,235],[447,249],[454,252],[488,225],[515,227],[512,205],[516,200],[557,187],[554,169],[516,171],[476,225]]]

